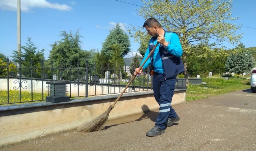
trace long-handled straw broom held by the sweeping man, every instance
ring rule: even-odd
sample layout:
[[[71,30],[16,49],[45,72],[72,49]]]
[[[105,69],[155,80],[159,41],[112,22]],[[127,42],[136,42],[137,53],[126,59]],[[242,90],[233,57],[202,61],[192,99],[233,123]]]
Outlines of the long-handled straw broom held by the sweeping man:
[[[154,50],[156,49],[157,45],[159,43],[157,42],[156,45],[154,46],[154,48],[152,49],[152,51],[150,52],[150,54],[148,55],[148,57],[146,58],[146,60],[142,63],[142,65],[139,67],[139,71],[142,69],[142,66],[147,62],[147,60],[149,59],[149,57],[153,54]],[[110,113],[110,111],[115,107],[117,101],[119,101],[119,99],[121,98],[121,96],[124,94],[125,90],[130,86],[130,84],[132,83],[132,81],[135,79],[136,75],[133,75],[132,79],[130,80],[130,82],[127,84],[127,86],[125,87],[125,89],[122,91],[122,93],[118,96],[118,98],[116,99],[116,101],[111,104],[108,109],[102,113],[101,115],[99,115],[96,119],[94,119],[91,122],[88,123],[84,123],[81,126],[79,126],[77,128],[78,131],[83,131],[83,132],[94,132],[94,131],[101,131],[104,129],[104,124],[106,123],[107,119],[108,119],[108,115]]]

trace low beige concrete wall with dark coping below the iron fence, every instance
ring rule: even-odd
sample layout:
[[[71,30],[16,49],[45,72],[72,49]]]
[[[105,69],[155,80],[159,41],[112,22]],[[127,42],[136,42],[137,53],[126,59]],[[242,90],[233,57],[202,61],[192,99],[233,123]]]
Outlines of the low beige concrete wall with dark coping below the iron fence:
[[[107,110],[119,95],[75,99],[63,103],[0,106],[0,145],[76,129]],[[172,105],[185,103],[186,90],[175,90]],[[124,94],[109,119],[158,109],[153,92]]]

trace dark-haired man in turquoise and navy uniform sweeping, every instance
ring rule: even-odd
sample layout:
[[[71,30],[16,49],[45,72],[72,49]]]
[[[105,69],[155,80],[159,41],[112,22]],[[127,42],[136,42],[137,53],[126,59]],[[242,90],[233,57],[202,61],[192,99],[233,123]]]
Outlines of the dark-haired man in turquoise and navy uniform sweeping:
[[[147,19],[143,27],[146,28],[152,38],[142,62],[146,60],[157,43],[160,45],[156,47],[141,70],[139,68],[135,69],[134,75],[140,74],[143,69],[150,65],[151,74],[153,74],[154,97],[160,108],[155,126],[147,132],[146,136],[158,136],[164,134],[164,130],[171,126],[173,122],[180,120],[180,117],[171,107],[171,101],[177,74],[184,71],[181,59],[183,50],[179,36],[174,32],[162,29],[161,24],[156,19]]]

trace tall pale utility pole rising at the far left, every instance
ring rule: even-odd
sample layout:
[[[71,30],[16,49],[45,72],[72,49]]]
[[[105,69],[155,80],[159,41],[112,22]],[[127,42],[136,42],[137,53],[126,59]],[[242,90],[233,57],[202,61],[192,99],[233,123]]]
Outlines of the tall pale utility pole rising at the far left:
[[[21,0],[17,0],[17,52],[21,54]],[[18,66],[19,62],[17,62]]]

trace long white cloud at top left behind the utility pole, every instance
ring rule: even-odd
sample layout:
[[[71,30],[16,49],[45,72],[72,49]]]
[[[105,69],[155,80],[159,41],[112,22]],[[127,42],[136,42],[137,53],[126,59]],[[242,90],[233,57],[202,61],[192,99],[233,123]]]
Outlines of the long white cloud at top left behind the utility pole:
[[[47,0],[21,0],[21,11],[29,12],[32,8],[52,8],[61,11],[72,10],[66,4],[50,3]],[[17,0],[1,0],[0,9],[17,10]]]

